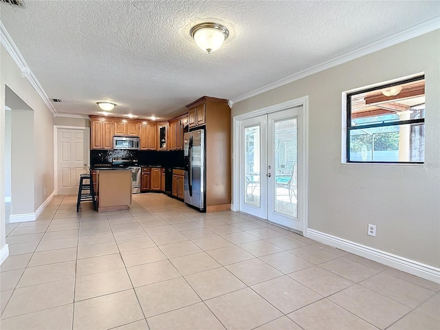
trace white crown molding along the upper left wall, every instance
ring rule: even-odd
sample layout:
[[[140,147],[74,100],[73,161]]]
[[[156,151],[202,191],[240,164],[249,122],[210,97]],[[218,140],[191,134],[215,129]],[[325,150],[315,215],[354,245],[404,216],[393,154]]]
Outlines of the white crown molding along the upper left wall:
[[[17,48],[17,45],[15,45],[10,34],[6,30],[5,25],[3,25],[1,21],[0,21],[0,41],[2,45],[5,47],[5,49],[8,51],[8,54],[10,54],[14,62],[19,67],[21,71],[21,76],[29,80],[30,85],[34,87],[35,91],[37,92],[37,94],[39,94],[43,102],[45,102],[45,104],[50,109],[52,114],[56,115],[56,109],[52,104],[52,102],[50,102],[50,98],[47,96],[43,87],[41,87],[39,80],[36,79],[36,76],[34,76],[31,69],[28,67],[28,64],[26,63],[25,59],[23,58],[23,56],[21,56],[21,53]]]

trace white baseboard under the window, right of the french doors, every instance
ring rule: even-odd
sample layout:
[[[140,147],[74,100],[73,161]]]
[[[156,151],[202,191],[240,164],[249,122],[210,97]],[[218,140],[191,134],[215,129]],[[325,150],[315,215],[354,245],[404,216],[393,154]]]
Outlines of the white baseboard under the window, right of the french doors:
[[[363,256],[366,259],[383,263],[384,265],[396,268],[403,272],[425,278],[426,280],[440,283],[440,268],[419,263],[418,261],[406,259],[403,256],[397,256],[382,250],[370,248],[369,246],[358,244],[340,237],[325,234],[324,232],[318,232],[318,230],[308,229],[307,237],[324,243],[333,248],[338,248],[358,256]]]

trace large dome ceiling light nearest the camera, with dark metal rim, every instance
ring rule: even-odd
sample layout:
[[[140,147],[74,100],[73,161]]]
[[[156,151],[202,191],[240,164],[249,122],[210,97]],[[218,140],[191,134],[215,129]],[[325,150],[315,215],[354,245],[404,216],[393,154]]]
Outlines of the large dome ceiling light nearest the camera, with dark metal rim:
[[[229,31],[218,23],[200,23],[191,28],[190,34],[202,50],[211,54],[223,45],[223,41],[229,36]]]

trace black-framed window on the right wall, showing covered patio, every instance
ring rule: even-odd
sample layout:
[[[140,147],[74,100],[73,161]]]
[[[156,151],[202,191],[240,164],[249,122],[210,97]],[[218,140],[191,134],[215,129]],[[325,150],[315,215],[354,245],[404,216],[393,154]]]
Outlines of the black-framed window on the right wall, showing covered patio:
[[[347,94],[347,162],[423,163],[425,78]]]

